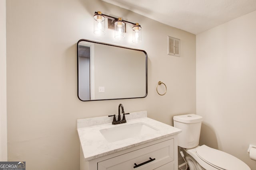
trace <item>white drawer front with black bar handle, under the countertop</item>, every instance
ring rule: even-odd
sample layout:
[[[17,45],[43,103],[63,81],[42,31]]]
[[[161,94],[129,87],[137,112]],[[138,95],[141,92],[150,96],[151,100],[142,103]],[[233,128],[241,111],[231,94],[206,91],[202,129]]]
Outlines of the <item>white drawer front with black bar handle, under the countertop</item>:
[[[98,170],[154,170],[173,160],[174,139],[170,139],[98,162]],[[143,164],[144,162],[148,163]],[[138,167],[134,168],[135,164]]]

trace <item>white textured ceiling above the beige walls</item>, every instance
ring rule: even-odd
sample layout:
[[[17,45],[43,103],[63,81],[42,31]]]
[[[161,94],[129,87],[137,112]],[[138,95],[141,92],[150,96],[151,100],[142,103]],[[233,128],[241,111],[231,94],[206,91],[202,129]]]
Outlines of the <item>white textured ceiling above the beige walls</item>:
[[[256,0],[103,1],[194,34],[256,10]]]

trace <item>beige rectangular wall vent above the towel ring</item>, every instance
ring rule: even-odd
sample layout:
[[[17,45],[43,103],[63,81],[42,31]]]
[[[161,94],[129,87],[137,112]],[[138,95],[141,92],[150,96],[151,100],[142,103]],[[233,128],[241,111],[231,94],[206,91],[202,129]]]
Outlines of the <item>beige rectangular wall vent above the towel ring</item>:
[[[168,36],[168,55],[180,57],[180,39]]]

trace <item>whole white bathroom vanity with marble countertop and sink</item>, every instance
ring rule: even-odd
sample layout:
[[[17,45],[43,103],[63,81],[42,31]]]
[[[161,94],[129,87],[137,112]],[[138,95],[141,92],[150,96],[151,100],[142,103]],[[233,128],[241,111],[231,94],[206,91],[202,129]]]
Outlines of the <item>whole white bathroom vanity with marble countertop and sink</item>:
[[[111,117],[78,119],[80,170],[176,170],[180,129],[130,113],[127,123]]]

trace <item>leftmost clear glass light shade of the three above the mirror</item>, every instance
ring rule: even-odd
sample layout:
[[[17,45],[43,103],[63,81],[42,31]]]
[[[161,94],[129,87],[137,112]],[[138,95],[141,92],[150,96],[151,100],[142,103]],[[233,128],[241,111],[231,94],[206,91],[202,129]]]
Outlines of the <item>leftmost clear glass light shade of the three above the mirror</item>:
[[[104,35],[105,34],[105,17],[101,15],[101,12],[95,14],[94,18],[94,34]]]

